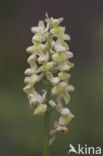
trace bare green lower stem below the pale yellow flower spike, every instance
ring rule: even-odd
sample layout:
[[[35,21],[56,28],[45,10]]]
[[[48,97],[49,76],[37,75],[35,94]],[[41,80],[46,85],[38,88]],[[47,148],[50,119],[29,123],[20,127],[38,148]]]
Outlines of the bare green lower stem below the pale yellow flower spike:
[[[44,117],[44,149],[43,156],[49,156],[49,127],[50,127],[50,112],[46,112]]]

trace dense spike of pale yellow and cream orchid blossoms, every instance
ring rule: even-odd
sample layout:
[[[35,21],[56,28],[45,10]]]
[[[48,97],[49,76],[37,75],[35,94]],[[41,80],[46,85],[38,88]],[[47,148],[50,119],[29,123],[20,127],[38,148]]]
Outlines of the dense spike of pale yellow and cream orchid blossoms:
[[[31,55],[27,60],[30,67],[25,70],[24,92],[30,106],[35,108],[35,115],[45,115],[46,111],[53,109],[60,113],[55,129],[51,131],[54,135],[61,130],[67,132],[66,125],[74,117],[65,107],[70,102],[70,92],[74,91],[74,87],[68,84],[71,77],[68,71],[74,64],[69,61],[73,53],[66,42],[70,36],[65,34],[65,27],[59,25],[63,18],[46,17],[45,22],[39,21],[37,27],[31,28],[34,36],[33,45],[27,48]],[[40,82],[45,86],[42,94],[35,87]]]

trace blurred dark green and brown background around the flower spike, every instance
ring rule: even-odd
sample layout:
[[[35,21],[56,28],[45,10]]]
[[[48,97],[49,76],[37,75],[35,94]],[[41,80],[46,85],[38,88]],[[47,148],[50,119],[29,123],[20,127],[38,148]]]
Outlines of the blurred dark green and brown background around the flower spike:
[[[69,107],[76,117],[51,156],[67,156],[70,143],[103,146],[103,0],[0,0],[0,156],[42,155],[43,120],[29,109],[22,88],[30,27],[45,12],[64,17],[75,62]]]

